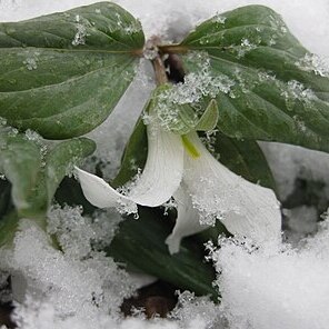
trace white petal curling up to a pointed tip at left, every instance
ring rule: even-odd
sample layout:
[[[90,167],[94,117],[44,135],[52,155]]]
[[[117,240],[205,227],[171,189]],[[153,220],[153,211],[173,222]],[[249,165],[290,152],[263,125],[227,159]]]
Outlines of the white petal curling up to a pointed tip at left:
[[[163,131],[157,124],[148,126],[148,158],[141,177],[129,187],[129,193],[119,193],[103,179],[77,168],[84,197],[99,207],[118,207],[134,202],[157,207],[168,201],[182,179],[183,148],[179,136]]]

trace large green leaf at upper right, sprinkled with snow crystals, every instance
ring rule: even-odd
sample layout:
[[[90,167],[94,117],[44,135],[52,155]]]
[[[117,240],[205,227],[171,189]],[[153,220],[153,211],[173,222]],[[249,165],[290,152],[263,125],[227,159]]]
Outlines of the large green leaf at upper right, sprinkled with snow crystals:
[[[187,71],[208,83],[202,101],[216,93],[221,132],[329,151],[329,79],[275,11],[216,16],[178,48]]]

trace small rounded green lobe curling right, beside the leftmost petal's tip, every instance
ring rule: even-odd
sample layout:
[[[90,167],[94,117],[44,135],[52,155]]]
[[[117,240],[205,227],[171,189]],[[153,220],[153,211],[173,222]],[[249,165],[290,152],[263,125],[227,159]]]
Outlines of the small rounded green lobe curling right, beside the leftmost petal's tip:
[[[49,205],[64,176],[70,173],[73,166],[78,164],[81,159],[90,156],[94,149],[96,144],[92,140],[77,138],[57,144],[47,154],[44,176]]]

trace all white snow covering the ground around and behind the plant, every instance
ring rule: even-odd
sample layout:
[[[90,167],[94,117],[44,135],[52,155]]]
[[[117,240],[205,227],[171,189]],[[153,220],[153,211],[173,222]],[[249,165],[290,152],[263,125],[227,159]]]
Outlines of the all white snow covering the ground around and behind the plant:
[[[97,1],[0,0],[0,21],[17,21]],[[266,4],[282,14],[292,33],[310,51],[329,58],[328,0],[116,2],[141,20],[147,37],[160,34],[175,41],[179,41],[196,23],[217,12],[250,3]],[[143,63],[111,120],[89,133],[98,142],[97,156],[103,160],[107,178],[118,169],[124,141],[153,87],[152,79],[144,77],[148,71],[148,64]],[[327,183],[323,193],[329,196],[329,156],[277,143],[262,143],[262,148],[278,182],[281,200],[292,192],[297,177],[323,181]],[[87,166],[92,170],[92,162]],[[180,298],[182,308],[175,313],[175,319],[147,321],[141,317],[118,319],[118,307],[122,298],[133,290],[133,282],[109,258],[90,249],[89,242],[94,235],[99,236],[101,243],[102,239],[109,237],[100,232],[111,232],[112,228],[103,227],[107,223],[101,215],[98,225],[93,226],[88,218],[81,217],[78,209],[54,209],[50,229],[62,238],[66,255],[50,248],[44,233],[27,226],[18,235],[14,249],[1,256],[1,267],[16,268],[13,282],[23,286],[14,291],[22,301],[16,311],[19,328],[328,328],[329,225],[325,222],[317,227],[318,213],[312,207],[303,205],[289,211],[289,226],[292,230],[295,228],[298,236],[293,240],[298,240],[295,249],[283,245],[279,250],[270,247],[253,250],[248,241],[241,245],[223,240],[222,248],[212,251],[217,270],[221,273],[218,279],[221,305],[215,306],[206,299],[193,299],[186,293]],[[113,222],[118,222],[117,215],[111,216]],[[69,226],[68,230],[63,229],[64,223]],[[317,229],[313,237],[300,241],[303,233]],[[86,259],[84,256],[90,252],[93,257]],[[29,278],[26,286],[22,278]],[[30,291],[23,301],[21,291],[26,287]],[[31,290],[31,287],[34,288]],[[90,291],[98,292],[93,302],[88,299]],[[108,311],[111,313],[108,315]]]

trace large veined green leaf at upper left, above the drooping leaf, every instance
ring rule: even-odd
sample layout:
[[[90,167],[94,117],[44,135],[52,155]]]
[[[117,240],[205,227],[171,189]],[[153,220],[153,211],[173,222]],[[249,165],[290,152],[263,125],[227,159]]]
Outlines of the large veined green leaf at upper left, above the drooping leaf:
[[[143,42],[112,2],[0,23],[0,117],[49,139],[92,130],[130,84]]]

